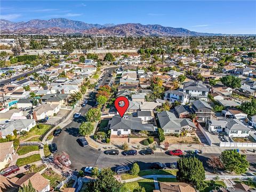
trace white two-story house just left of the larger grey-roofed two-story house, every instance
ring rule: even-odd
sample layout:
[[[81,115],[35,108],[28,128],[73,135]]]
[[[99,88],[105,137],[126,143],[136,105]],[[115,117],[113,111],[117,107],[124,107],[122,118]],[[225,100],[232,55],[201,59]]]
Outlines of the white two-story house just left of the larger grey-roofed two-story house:
[[[175,101],[185,105],[189,102],[189,95],[178,90],[168,90],[164,93],[164,100],[174,103]]]

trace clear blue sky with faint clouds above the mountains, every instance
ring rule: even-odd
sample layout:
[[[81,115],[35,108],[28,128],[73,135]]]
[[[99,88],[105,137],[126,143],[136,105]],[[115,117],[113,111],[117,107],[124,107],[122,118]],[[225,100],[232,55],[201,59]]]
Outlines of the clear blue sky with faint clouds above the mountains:
[[[256,34],[256,1],[1,1],[1,19],[18,22],[52,18]]]

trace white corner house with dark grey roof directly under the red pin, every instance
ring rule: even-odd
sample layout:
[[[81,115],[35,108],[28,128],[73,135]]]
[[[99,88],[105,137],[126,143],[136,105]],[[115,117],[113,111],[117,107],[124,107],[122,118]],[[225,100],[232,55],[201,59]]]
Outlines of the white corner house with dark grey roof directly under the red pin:
[[[132,117],[131,115],[125,115],[123,118],[119,115],[115,115],[108,123],[108,127],[111,130],[111,135],[129,135],[133,131],[156,131],[156,127],[153,124],[142,123],[141,118]]]

